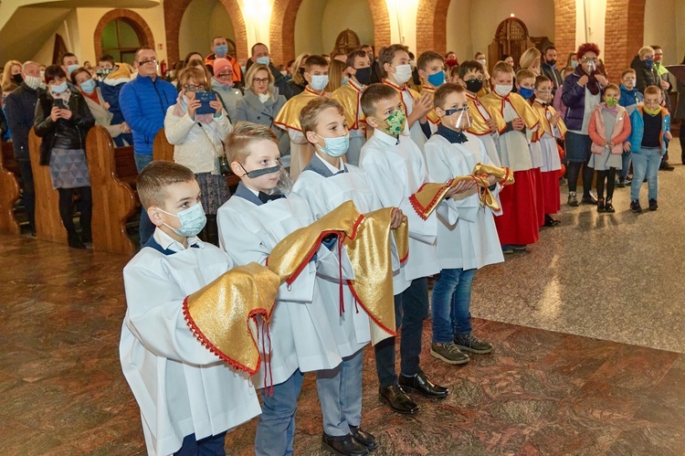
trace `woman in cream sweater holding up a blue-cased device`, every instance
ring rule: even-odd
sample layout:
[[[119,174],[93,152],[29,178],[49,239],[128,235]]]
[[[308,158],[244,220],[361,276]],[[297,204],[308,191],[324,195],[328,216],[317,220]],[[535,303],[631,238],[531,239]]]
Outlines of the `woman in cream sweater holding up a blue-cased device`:
[[[176,104],[169,107],[164,117],[164,134],[174,144],[174,162],[195,173],[207,217],[201,237],[217,245],[216,211],[231,196],[219,167],[231,122],[216,93],[206,92],[209,84],[202,69],[183,69],[178,75],[178,87],[181,91]]]

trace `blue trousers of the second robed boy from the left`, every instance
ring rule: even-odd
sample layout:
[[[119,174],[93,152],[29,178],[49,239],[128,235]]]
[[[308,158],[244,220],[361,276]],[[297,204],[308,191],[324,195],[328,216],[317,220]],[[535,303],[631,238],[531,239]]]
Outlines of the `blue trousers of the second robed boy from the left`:
[[[292,454],[295,437],[295,412],[304,376],[300,369],[290,378],[273,387],[273,396],[261,390],[261,415],[255,435],[255,454],[283,456]]]

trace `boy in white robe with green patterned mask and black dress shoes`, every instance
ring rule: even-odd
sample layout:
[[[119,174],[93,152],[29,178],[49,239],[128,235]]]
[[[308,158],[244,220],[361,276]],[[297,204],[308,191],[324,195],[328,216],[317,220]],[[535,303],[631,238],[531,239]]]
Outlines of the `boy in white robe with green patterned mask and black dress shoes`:
[[[404,50],[397,52],[406,53]],[[385,63],[386,71],[390,67]],[[402,327],[399,378],[395,372],[395,337],[376,344],[374,349],[381,401],[396,412],[414,414],[418,406],[406,395],[404,388],[427,398],[446,398],[449,391],[428,380],[419,366],[423,321],[428,311],[427,277],[439,272],[437,214],[424,220],[409,200],[428,182],[428,175],[424,156],[408,134],[403,100],[390,85],[372,84],[364,90],[362,110],[366,123],[374,128],[374,135],[362,148],[361,165],[383,207],[399,207],[408,218],[411,253],[393,281],[396,321]],[[458,213],[454,203],[447,198],[468,188],[468,185],[459,184],[450,189],[437,207],[437,212],[449,223],[456,223]]]

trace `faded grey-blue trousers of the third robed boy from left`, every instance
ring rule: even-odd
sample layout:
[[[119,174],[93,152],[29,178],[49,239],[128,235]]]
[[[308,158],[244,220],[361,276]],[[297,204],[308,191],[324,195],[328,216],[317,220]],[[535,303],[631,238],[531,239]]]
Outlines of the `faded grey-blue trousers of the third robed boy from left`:
[[[362,367],[364,350],[342,359],[338,366],[316,373],[323,431],[345,436],[362,422]]]

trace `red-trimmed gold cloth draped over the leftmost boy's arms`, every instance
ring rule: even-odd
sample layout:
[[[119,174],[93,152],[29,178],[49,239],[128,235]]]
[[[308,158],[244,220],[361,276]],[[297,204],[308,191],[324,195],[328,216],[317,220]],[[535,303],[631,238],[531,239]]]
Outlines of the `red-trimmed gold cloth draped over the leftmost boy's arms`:
[[[253,323],[273,312],[279,286],[279,276],[260,264],[237,266],[185,298],[185,322],[212,353],[254,375],[259,352]]]

